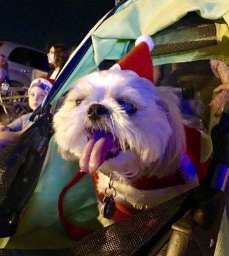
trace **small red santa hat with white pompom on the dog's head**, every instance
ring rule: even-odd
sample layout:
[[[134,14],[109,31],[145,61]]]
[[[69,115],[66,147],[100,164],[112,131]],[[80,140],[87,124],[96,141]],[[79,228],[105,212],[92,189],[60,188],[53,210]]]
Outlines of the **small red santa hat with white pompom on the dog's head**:
[[[124,56],[112,69],[132,70],[138,76],[153,82],[151,51],[154,48],[151,36],[142,35],[135,41],[135,47]]]

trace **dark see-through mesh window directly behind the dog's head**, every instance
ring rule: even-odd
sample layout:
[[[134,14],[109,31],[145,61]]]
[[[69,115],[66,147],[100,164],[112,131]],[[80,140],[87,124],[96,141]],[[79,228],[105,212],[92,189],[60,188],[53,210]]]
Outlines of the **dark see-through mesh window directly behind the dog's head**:
[[[161,65],[156,67],[154,83],[157,86],[172,86],[181,100],[180,108],[184,118],[190,121],[191,126],[194,125],[210,134],[212,127],[218,124],[225,106],[225,102],[220,98],[221,94],[224,93],[229,99],[228,90],[214,92],[214,89],[223,83],[223,77],[219,75],[226,76],[228,73],[228,66],[225,66],[225,63],[223,65],[225,70],[218,70],[218,74],[214,74],[210,60]],[[218,100],[217,106],[220,106],[220,109],[215,104],[211,106],[212,100]]]

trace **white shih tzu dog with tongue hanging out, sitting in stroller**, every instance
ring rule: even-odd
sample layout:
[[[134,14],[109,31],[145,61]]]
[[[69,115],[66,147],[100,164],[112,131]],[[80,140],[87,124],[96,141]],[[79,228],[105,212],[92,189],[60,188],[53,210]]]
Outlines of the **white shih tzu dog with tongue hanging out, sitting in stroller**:
[[[98,195],[108,198],[98,196],[104,226],[115,221],[113,201],[138,211],[198,186],[177,97],[119,69],[78,79],[54,115],[59,152],[93,173]]]

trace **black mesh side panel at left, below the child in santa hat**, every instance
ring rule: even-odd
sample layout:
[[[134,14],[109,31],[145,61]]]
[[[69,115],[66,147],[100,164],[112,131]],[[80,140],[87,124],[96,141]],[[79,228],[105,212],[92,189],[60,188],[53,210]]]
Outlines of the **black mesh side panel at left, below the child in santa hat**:
[[[0,152],[0,237],[11,236],[33,194],[47,152],[50,125],[43,116]]]

